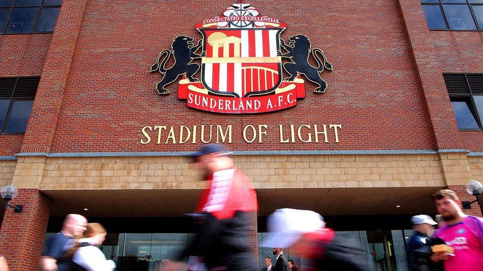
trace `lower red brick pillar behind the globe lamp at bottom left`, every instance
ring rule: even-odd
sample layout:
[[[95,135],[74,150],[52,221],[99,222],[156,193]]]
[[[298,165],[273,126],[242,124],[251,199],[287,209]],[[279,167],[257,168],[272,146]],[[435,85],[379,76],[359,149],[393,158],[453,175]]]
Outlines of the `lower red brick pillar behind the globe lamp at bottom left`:
[[[44,245],[51,199],[38,189],[19,189],[12,205],[23,205],[15,214],[8,208],[0,228],[0,251],[11,271],[37,271]]]

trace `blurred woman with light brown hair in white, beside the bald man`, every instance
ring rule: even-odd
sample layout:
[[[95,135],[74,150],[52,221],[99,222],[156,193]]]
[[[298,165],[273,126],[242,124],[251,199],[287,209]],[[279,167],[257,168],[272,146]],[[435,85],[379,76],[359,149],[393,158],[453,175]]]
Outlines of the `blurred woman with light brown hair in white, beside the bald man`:
[[[74,247],[67,253],[72,259],[71,271],[112,271],[116,264],[107,260],[104,253],[97,247],[101,245],[107,231],[99,223],[87,224],[84,235],[77,238]]]

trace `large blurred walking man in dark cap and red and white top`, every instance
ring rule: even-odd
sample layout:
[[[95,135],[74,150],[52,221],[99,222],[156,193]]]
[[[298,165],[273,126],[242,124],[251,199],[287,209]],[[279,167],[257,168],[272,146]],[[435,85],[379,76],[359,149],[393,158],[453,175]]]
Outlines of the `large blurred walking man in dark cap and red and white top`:
[[[197,211],[205,218],[193,242],[163,270],[184,270],[184,257],[203,257],[209,270],[253,270],[248,234],[252,230],[247,213],[257,211],[256,195],[248,178],[234,167],[231,153],[223,145],[204,145],[193,155],[209,189],[200,197]]]

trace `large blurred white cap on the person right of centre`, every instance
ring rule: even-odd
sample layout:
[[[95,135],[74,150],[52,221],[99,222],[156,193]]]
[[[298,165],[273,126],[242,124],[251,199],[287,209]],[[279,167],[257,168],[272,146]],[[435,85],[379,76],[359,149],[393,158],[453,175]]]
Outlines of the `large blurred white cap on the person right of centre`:
[[[267,218],[269,233],[263,237],[262,247],[290,247],[303,234],[325,227],[322,216],[314,211],[290,208],[277,209]]]

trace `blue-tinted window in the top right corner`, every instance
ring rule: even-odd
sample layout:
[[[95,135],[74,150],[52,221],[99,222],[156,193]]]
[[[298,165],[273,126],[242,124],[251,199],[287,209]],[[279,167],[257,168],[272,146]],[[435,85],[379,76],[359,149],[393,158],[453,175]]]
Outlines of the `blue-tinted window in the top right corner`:
[[[483,30],[483,0],[421,0],[431,30]]]

